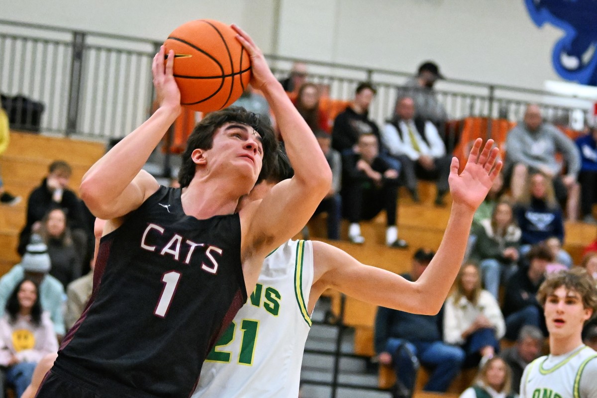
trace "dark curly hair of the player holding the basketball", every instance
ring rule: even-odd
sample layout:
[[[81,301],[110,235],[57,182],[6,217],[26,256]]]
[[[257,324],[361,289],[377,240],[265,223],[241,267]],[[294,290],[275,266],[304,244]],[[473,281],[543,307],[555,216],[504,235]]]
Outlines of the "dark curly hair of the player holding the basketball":
[[[276,159],[276,148],[278,147],[272,126],[256,113],[248,112],[242,107],[231,106],[209,113],[193,129],[189,140],[187,140],[187,147],[182,155],[182,165],[179,171],[181,188],[189,186],[190,181],[195,177],[196,165],[191,158],[193,151],[195,149],[211,149],[217,129],[226,123],[233,122],[248,125],[261,135],[263,162],[257,182],[259,183],[259,181],[263,180],[264,176],[269,175],[270,168]]]

